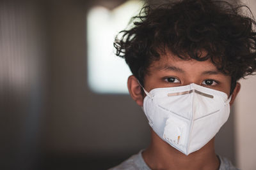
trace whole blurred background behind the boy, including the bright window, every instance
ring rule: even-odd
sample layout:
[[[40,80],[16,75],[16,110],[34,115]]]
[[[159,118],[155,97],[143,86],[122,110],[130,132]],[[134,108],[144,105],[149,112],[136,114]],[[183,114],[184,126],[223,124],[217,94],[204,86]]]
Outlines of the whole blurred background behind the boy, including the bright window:
[[[131,73],[113,55],[115,35],[145,3],[0,1],[0,169],[108,169],[148,146]],[[256,78],[241,84],[216,152],[256,169]]]

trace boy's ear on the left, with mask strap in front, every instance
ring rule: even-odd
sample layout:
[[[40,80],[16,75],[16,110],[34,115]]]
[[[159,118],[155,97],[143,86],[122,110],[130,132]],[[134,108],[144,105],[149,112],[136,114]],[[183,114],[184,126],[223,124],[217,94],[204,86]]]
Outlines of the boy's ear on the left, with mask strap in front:
[[[130,93],[130,96],[134,101],[139,105],[143,106],[143,92],[141,86],[134,75],[129,76],[127,81],[127,87]]]

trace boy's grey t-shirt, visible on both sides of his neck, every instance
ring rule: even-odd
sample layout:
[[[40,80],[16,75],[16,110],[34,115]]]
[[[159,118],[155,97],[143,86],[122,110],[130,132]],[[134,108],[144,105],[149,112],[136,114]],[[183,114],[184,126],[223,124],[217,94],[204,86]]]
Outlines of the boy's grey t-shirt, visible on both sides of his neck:
[[[141,153],[143,150],[141,150],[138,154],[132,155],[129,159],[125,160],[122,162],[120,165],[116,167],[112,167],[109,170],[150,170],[150,167],[147,166],[145,163]],[[232,165],[232,163],[228,160],[225,159],[224,157],[218,156],[220,159],[220,168],[219,170],[239,170],[236,167]]]

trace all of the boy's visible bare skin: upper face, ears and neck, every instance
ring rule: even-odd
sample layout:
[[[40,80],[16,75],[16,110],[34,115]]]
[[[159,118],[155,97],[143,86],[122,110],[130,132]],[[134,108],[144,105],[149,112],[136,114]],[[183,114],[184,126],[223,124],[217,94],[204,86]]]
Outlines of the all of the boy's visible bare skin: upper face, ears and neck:
[[[150,92],[159,87],[177,87],[196,83],[204,87],[225,92],[230,96],[231,77],[220,73],[210,60],[203,62],[196,60],[182,60],[168,53],[162,55],[160,60],[153,62],[148,68],[148,74],[144,78],[144,89]],[[135,76],[128,78],[129,93],[139,106],[143,106],[145,94]],[[230,106],[234,103],[240,84],[232,93]],[[214,151],[214,138],[200,150],[190,153],[188,156],[179,152],[171,145],[163,141],[151,129],[150,146],[142,153],[143,159],[151,169],[218,169],[220,160]]]

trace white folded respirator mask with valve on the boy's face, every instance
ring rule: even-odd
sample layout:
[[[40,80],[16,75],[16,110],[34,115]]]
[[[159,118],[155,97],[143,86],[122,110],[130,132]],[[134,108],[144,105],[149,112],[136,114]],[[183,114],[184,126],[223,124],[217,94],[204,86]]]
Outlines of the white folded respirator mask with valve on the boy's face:
[[[195,83],[144,91],[143,110],[150,126],[186,155],[207,144],[230,113],[231,96]]]

